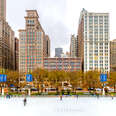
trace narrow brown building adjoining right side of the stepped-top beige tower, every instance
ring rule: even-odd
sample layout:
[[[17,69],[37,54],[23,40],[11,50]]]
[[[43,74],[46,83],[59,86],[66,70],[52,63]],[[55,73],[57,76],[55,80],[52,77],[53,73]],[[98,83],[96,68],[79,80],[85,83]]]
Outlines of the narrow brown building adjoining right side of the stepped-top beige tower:
[[[48,35],[44,37],[44,57],[50,57],[50,39]]]

